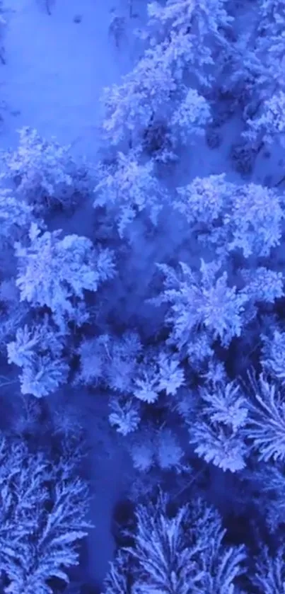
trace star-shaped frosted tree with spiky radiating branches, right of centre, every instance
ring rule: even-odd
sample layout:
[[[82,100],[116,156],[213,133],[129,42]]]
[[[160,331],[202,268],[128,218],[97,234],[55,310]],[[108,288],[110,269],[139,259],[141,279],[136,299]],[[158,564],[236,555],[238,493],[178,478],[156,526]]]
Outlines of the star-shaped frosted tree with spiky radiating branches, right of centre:
[[[158,268],[165,276],[164,291],[152,302],[168,304],[165,320],[171,343],[187,350],[187,343],[191,345],[203,329],[223,345],[240,336],[248,297],[228,285],[228,275],[220,272],[219,262],[202,260],[199,273],[182,262],[178,270],[164,264]]]

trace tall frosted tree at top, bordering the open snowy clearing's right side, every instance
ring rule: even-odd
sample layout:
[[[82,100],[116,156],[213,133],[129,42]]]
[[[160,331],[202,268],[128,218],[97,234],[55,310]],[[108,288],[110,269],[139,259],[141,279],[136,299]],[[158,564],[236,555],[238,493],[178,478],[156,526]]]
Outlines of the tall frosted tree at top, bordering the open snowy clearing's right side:
[[[138,145],[153,118],[159,117],[171,129],[173,111],[173,134],[177,127],[181,132],[182,121],[187,121],[188,133],[192,133],[209,118],[204,98],[198,102],[195,91],[182,93],[181,85],[185,72],[194,74],[198,84],[209,85],[209,71],[215,64],[212,48],[222,55],[228,45],[224,29],[231,18],[223,4],[223,0],[149,4],[150,47],[120,86],[105,89],[103,132],[109,142],[129,139],[132,146]]]

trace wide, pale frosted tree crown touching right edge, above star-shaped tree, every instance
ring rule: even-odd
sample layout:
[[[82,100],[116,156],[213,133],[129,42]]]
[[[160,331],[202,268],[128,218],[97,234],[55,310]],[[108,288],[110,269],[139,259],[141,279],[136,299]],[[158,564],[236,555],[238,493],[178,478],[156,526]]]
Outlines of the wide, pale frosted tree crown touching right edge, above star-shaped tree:
[[[177,188],[173,206],[185,216],[190,232],[222,258],[235,250],[244,258],[269,256],[281,240],[284,201],[274,188],[235,185],[224,174],[194,178]]]

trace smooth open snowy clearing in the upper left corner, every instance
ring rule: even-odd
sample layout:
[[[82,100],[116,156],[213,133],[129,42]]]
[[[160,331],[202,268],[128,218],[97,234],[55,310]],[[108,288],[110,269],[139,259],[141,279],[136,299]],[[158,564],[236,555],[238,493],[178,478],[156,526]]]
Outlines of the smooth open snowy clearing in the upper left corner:
[[[108,33],[113,0],[52,0],[50,16],[46,1],[6,0],[1,147],[15,145],[16,130],[28,125],[92,157],[101,90],[128,69],[131,45],[124,38],[124,51],[118,51]],[[118,8],[118,14],[125,11]]]

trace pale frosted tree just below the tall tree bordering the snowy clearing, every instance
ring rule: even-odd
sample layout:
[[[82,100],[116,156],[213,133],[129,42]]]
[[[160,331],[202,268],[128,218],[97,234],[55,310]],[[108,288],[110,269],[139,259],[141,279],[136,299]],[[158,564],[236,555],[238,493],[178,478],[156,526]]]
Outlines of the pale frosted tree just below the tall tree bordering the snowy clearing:
[[[139,154],[118,152],[116,164],[98,166],[94,207],[105,206],[117,221],[120,236],[136,215],[146,210],[151,222],[157,224],[165,201],[166,190],[154,176],[153,161],[139,163]]]

